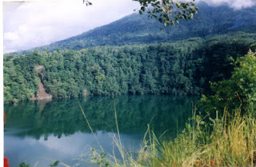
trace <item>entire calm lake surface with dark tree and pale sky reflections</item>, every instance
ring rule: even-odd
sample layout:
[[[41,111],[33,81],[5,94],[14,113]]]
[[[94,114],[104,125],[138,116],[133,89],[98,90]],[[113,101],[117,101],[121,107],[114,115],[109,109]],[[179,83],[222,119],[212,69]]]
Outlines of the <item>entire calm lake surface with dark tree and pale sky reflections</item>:
[[[123,95],[87,97],[53,101],[30,101],[5,105],[4,155],[10,166],[22,161],[34,166],[49,166],[54,160],[73,166],[92,166],[91,149],[99,145],[118,157],[114,109],[122,145],[127,151],[140,149],[147,125],[166,137],[182,129],[191,116],[197,97],[170,95]],[[94,131],[91,133],[79,104]],[[62,166],[62,165],[58,165]],[[97,165],[96,165],[97,166]]]

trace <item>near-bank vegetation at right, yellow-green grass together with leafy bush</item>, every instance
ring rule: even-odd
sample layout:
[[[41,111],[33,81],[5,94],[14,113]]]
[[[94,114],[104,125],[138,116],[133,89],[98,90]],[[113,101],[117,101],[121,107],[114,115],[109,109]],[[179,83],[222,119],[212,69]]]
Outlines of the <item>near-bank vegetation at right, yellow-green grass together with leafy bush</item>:
[[[194,112],[174,140],[156,137],[149,126],[138,156],[115,138],[122,160],[96,152],[93,160],[101,166],[256,166],[256,54],[230,60],[231,78],[213,83],[214,95],[202,96],[209,114]]]

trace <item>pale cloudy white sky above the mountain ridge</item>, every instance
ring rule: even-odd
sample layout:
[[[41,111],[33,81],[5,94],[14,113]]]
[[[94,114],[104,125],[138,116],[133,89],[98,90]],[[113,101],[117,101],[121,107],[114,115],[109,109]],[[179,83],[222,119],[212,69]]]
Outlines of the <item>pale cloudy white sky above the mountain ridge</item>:
[[[206,1],[196,0],[195,2]],[[132,0],[55,0],[3,3],[4,53],[49,45],[106,25],[138,10]],[[212,6],[228,4],[234,10],[253,6],[256,0],[207,0]],[[138,11],[137,11],[138,12]]]

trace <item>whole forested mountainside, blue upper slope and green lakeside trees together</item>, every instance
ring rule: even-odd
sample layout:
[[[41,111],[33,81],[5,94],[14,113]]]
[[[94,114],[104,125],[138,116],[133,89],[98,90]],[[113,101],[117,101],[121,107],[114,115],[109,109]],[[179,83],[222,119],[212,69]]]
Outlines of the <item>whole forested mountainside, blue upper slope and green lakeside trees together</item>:
[[[230,77],[228,58],[256,42],[256,8],[200,3],[197,17],[160,30],[157,20],[131,14],[39,51],[6,54],[4,100],[37,98],[39,82],[54,98],[207,93],[209,82]]]

